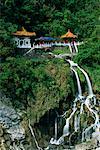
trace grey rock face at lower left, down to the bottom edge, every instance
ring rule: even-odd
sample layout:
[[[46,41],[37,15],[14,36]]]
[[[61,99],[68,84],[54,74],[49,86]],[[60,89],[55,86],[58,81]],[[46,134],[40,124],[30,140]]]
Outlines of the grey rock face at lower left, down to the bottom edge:
[[[24,139],[25,130],[21,125],[21,116],[0,101],[0,150],[16,149],[18,142],[18,147],[22,147],[20,145]]]

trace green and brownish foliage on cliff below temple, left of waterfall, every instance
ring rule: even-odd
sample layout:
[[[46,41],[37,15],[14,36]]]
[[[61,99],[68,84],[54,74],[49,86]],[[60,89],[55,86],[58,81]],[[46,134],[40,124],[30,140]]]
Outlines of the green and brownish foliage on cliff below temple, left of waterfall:
[[[69,68],[59,60],[8,58],[0,70],[2,92],[16,107],[34,108],[34,119],[70,93]]]

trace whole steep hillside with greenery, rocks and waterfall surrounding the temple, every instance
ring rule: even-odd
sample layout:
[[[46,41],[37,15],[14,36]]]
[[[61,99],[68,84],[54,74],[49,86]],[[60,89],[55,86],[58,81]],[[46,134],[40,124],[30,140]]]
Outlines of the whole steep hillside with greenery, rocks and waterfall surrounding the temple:
[[[80,150],[81,142],[88,143],[83,143],[84,150],[86,145],[100,147],[98,6],[98,0],[1,0],[0,149]],[[22,27],[34,31],[36,38],[58,38],[71,29],[83,44],[71,57],[74,62],[44,51],[23,56],[12,35]],[[93,142],[91,137],[96,137]]]

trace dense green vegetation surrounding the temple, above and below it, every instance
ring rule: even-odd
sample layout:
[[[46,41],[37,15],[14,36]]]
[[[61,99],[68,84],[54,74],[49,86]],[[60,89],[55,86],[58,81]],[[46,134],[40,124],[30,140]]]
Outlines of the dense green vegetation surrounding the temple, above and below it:
[[[46,111],[48,106],[54,107],[54,102],[70,92],[67,80],[64,81],[69,72],[63,62],[16,56],[11,34],[22,26],[28,31],[35,31],[37,36],[54,37],[59,37],[70,28],[79,40],[84,41],[75,60],[90,71],[95,90],[99,91],[98,6],[98,0],[1,0],[0,58],[4,61],[0,68],[0,87],[13,103],[17,101],[18,106],[21,103],[26,106],[32,101],[37,108],[41,100]],[[50,72],[52,66],[54,75]],[[52,102],[49,103],[50,99]],[[39,109],[38,112],[43,112]]]

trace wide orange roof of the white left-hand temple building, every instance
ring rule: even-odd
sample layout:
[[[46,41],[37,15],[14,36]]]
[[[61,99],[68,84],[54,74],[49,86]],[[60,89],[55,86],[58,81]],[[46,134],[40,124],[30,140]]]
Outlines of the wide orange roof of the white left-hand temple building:
[[[21,31],[17,31],[15,33],[12,33],[13,35],[16,36],[36,36],[35,32],[28,32],[24,27],[22,27]]]

